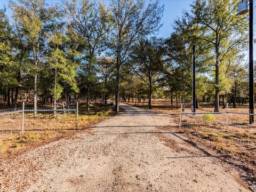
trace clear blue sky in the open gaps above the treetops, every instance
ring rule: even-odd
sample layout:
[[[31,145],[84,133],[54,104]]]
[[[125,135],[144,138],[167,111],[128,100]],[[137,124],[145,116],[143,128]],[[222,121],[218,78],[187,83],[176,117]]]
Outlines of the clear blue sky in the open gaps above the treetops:
[[[95,0],[105,1],[106,4],[109,0]],[[8,0],[0,0],[0,4],[8,7]],[[48,4],[55,4],[61,2],[61,0],[46,0]],[[193,0],[160,0],[161,5],[164,4],[164,14],[162,18],[163,27],[160,29],[159,37],[169,37],[172,32],[172,23],[175,19],[182,15],[183,10],[190,10],[190,4]],[[9,12],[9,10],[7,10]]]

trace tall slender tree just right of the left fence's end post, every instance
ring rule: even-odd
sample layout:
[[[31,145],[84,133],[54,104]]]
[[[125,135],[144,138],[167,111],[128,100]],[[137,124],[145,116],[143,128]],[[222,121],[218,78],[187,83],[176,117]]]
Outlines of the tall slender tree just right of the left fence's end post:
[[[97,53],[102,50],[107,34],[112,25],[109,9],[100,2],[81,0],[66,2],[66,11],[71,19],[70,26],[79,38],[81,70],[86,84],[87,111],[90,110],[90,90],[95,79]]]

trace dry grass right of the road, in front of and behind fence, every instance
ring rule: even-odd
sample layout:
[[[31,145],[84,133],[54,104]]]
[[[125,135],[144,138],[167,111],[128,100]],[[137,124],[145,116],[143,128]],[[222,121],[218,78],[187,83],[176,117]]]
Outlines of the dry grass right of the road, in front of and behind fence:
[[[147,103],[127,104],[148,109]],[[173,123],[179,125],[179,109],[175,108],[175,101],[171,106],[170,100],[153,100],[153,110],[170,114]],[[190,103],[186,103],[185,111],[191,112]],[[212,103],[199,103],[197,111],[214,111]],[[226,111],[220,106],[220,111]],[[237,108],[230,106],[229,111],[248,113],[248,105],[237,105]],[[226,127],[227,114],[212,115],[183,115],[180,134],[184,135],[197,146],[203,148],[222,161],[240,167],[245,180],[256,185],[256,126],[248,125],[248,115],[228,114],[229,127]],[[170,127],[174,132],[177,127]]]

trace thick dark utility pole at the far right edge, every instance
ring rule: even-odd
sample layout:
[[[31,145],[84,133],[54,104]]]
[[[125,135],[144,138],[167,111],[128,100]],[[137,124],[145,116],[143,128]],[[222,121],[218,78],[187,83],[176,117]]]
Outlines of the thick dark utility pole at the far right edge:
[[[253,0],[249,3],[249,108],[250,114],[254,114],[254,69],[253,69]],[[250,115],[250,124],[254,123],[254,116]]]

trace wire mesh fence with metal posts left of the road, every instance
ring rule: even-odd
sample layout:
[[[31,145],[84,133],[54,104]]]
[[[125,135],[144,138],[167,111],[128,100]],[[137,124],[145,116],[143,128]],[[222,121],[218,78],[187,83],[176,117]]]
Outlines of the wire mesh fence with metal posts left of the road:
[[[78,129],[77,105],[0,111],[0,138],[25,131]]]

